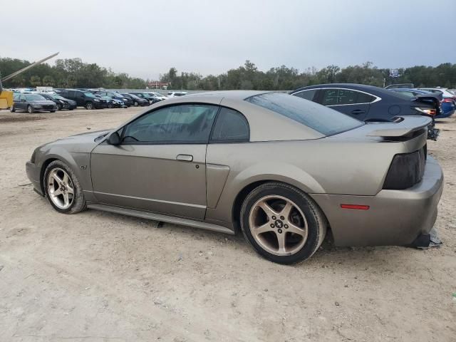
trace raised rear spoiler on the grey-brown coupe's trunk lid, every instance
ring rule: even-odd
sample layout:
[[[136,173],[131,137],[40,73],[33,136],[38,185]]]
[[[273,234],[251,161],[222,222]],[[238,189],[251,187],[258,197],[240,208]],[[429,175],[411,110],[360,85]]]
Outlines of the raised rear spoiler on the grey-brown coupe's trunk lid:
[[[392,123],[366,123],[371,125],[371,137],[402,137],[421,130],[432,123],[432,118],[425,115],[408,115],[396,118]]]

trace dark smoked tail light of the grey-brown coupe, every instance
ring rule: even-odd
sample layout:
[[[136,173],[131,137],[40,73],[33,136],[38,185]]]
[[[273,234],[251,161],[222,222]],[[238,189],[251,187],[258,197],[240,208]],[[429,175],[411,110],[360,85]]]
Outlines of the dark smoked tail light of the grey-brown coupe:
[[[395,155],[388,174],[383,183],[383,189],[403,190],[413,187],[423,179],[426,162],[426,147],[412,153]]]

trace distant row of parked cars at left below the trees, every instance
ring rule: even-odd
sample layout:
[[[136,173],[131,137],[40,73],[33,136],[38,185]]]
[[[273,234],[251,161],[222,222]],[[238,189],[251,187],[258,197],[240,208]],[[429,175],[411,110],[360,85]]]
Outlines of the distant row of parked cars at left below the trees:
[[[114,90],[63,88],[53,89],[52,92],[38,92],[33,88],[27,88],[26,90],[16,90],[11,112],[24,110],[28,113],[38,111],[53,113],[56,110],[73,110],[76,107],[84,107],[88,110],[128,108],[152,105],[167,98],[186,94],[185,92],[170,92],[169,96],[164,96],[155,92],[119,93]]]

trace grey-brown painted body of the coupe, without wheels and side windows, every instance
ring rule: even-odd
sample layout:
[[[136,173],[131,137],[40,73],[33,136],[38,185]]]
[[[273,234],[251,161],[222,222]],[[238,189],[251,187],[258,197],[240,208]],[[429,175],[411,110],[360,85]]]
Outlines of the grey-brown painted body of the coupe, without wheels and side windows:
[[[28,177],[43,195],[46,165],[62,160],[76,173],[89,208],[229,234],[237,230],[244,197],[269,181],[284,182],[309,194],[326,215],[339,246],[411,244],[430,231],[443,184],[442,170],[432,157],[427,157],[423,180],[415,186],[382,189],[394,155],[420,150],[426,144],[426,133],[407,140],[394,137],[425,128],[428,118],[367,123],[325,137],[244,100],[260,93],[201,93],[156,103],[113,130],[73,135],[38,147],[33,161],[27,162]],[[248,120],[249,142],[108,143],[110,133],[144,113],[178,103],[209,103],[238,110]],[[324,108],[306,103],[316,115]],[[95,141],[103,134],[104,138]],[[182,161],[177,155],[193,158]],[[341,204],[366,204],[371,209],[342,209]]]

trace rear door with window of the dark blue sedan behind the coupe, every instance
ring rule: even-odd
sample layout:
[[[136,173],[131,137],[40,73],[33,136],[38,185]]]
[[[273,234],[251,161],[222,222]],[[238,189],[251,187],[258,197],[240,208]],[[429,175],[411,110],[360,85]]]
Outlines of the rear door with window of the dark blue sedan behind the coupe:
[[[321,88],[318,95],[318,103],[358,120],[366,118],[373,100],[374,95],[346,88]]]

